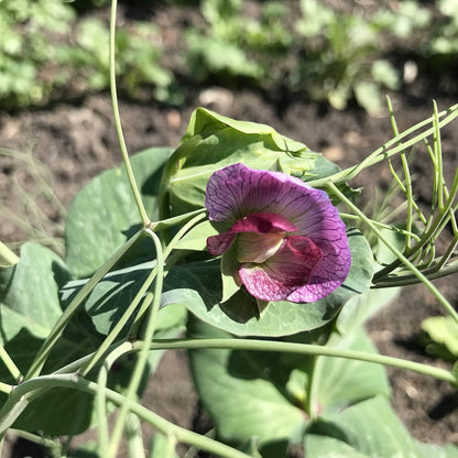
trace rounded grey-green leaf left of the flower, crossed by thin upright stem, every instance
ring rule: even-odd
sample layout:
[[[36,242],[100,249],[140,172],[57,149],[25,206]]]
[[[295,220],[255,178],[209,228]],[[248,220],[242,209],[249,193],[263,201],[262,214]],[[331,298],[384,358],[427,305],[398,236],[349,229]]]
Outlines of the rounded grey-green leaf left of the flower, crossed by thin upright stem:
[[[150,149],[131,157],[143,204],[151,220],[159,219],[157,192],[162,166],[171,150]],[[140,229],[140,216],[123,166],[87,184],[70,205],[65,227],[66,264],[83,277],[90,275]],[[151,244],[143,247],[152,250]]]

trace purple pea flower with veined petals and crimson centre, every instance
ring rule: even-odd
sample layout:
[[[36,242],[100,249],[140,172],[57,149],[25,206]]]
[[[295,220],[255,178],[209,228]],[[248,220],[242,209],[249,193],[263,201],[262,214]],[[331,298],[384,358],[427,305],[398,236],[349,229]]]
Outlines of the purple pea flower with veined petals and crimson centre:
[[[236,283],[258,301],[315,302],[348,275],[337,208],[298,178],[229,165],[210,176],[205,206],[210,220],[229,227],[207,239],[208,251],[222,254]]]

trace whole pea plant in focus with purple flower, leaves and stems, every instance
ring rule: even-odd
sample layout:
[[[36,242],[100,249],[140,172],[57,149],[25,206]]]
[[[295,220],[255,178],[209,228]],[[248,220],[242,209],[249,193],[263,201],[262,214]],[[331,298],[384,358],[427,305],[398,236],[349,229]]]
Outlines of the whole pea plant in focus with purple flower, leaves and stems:
[[[272,128],[196,109],[175,151],[131,157],[110,84],[122,168],[94,178],[66,219],[65,257],[28,242],[0,254],[0,435],[32,438],[51,456],[227,458],[458,456],[415,440],[390,404],[386,367],[458,386],[443,369],[379,355],[364,321],[396,288],[457,271],[458,172],[443,171],[434,113],[353,166]],[[392,112],[392,110],[391,110]],[[434,165],[432,205],[414,198],[407,151]],[[401,168],[392,161],[397,157]],[[423,160],[423,157],[422,157]],[[404,196],[403,223],[369,217],[349,182],[386,161]],[[435,241],[450,232],[439,251]],[[164,350],[187,349],[215,435],[178,427],[142,405]],[[116,415],[110,416],[116,411]],[[112,418],[112,422],[109,421]],[[157,432],[144,444],[141,424]],[[73,449],[94,426],[97,441]],[[201,455],[208,456],[208,455]]]

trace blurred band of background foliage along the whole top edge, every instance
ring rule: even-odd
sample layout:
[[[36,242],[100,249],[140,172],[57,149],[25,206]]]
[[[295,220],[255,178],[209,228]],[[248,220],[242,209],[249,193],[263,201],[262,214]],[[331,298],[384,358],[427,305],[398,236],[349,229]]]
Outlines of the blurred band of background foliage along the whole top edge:
[[[1,105],[43,103],[63,94],[106,89],[107,3],[2,1]],[[122,90],[132,97],[179,105],[189,84],[248,84],[271,96],[287,89],[337,109],[356,100],[377,112],[382,94],[426,73],[446,78],[457,68],[458,9],[452,0],[377,2],[351,11],[317,0],[146,1],[151,14],[141,20],[134,3],[121,4],[123,24],[116,39],[117,72]],[[175,37],[155,21],[166,4],[186,18]],[[96,11],[96,18],[87,18],[88,11]],[[456,81],[451,87],[457,90]]]

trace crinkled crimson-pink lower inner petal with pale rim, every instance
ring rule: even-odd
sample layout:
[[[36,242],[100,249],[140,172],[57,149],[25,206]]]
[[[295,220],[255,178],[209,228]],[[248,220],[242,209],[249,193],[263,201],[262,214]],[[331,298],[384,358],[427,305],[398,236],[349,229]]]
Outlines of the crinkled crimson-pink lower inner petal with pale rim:
[[[288,237],[282,248],[262,264],[247,263],[239,270],[248,292],[262,301],[284,301],[306,285],[323,253],[306,237]]]

